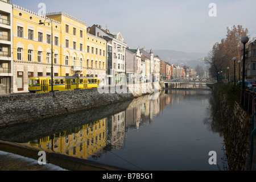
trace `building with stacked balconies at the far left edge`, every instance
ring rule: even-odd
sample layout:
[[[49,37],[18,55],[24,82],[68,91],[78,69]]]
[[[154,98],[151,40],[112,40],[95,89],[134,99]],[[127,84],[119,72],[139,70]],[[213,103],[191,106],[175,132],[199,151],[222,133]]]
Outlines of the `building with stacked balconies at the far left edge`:
[[[0,94],[13,92],[13,5],[0,1]]]

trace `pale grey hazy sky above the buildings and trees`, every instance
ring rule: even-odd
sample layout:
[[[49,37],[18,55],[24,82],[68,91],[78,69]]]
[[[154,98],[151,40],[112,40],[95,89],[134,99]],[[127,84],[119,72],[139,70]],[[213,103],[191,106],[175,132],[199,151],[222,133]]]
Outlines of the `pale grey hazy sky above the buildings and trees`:
[[[121,32],[130,48],[208,53],[226,36],[226,27],[241,24],[256,37],[255,0],[12,0],[38,13],[63,11],[110,32]],[[216,4],[216,9],[209,7]],[[216,10],[216,11],[212,11]],[[216,13],[216,16],[209,16]]]

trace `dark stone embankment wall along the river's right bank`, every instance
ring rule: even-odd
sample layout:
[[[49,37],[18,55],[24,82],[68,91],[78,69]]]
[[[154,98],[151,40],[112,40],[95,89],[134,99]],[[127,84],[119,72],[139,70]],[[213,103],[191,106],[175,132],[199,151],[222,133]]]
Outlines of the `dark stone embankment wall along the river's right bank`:
[[[250,118],[240,104],[219,96],[226,155],[230,171],[250,170]]]

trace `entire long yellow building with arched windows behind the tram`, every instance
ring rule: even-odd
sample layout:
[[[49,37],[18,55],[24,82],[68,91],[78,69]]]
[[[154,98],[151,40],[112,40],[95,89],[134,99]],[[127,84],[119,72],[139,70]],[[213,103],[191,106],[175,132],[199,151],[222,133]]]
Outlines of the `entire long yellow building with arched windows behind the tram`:
[[[106,41],[86,27],[63,12],[42,16],[13,5],[13,92],[28,91],[29,77],[51,76],[52,57],[53,76],[105,75]]]

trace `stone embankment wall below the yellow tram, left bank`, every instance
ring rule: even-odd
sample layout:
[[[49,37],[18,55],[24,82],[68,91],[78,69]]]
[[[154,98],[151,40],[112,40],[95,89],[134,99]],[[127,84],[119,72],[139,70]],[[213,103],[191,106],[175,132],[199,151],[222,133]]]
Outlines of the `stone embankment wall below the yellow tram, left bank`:
[[[132,100],[144,94],[162,89],[159,84],[145,83],[129,85],[120,89],[120,86],[110,86],[107,89],[81,89],[54,93],[10,94],[0,96],[0,126],[15,123],[40,120],[55,115],[72,113]],[[141,88],[136,90],[135,88]],[[146,90],[142,92],[142,89]],[[102,90],[105,93],[102,93]],[[114,92],[113,92],[114,90]],[[158,91],[157,90],[157,91]]]

